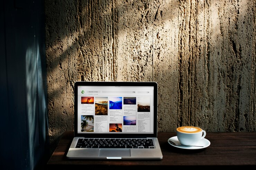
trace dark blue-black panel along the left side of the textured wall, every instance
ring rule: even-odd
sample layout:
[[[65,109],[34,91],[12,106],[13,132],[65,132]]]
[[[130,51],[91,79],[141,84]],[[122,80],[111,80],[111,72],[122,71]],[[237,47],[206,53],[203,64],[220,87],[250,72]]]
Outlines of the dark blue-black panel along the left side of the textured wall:
[[[43,169],[48,114],[43,0],[0,2],[0,169]]]

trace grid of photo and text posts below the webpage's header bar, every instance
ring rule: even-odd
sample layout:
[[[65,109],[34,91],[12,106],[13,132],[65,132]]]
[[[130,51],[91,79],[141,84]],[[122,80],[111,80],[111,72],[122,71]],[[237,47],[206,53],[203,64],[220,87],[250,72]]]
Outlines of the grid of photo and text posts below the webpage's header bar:
[[[150,96],[80,96],[81,132],[150,132],[153,109]]]

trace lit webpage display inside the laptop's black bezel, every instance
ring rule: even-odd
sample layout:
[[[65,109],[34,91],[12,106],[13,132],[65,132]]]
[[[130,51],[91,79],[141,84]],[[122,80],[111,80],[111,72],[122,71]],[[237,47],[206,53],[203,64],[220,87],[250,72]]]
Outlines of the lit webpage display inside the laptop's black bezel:
[[[152,134],[153,95],[150,86],[78,86],[77,132]]]

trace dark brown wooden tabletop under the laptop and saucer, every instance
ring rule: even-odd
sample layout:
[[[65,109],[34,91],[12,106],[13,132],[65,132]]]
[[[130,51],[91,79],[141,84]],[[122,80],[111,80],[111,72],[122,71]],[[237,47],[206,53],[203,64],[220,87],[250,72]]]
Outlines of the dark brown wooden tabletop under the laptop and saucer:
[[[196,150],[171,146],[167,140],[173,136],[176,136],[175,132],[158,132],[157,138],[163,153],[161,160],[70,160],[66,158],[66,153],[74,137],[74,132],[67,131],[63,134],[46,167],[47,169],[103,168],[105,170],[158,166],[162,168],[171,166],[256,166],[256,132],[207,132],[205,138],[211,142],[211,145]]]

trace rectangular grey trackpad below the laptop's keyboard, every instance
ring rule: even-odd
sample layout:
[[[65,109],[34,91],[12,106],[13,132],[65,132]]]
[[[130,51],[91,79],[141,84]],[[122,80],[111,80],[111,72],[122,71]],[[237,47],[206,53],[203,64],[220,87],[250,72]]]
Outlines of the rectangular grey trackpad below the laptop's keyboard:
[[[100,149],[100,157],[130,157],[130,149]]]

